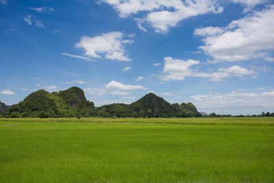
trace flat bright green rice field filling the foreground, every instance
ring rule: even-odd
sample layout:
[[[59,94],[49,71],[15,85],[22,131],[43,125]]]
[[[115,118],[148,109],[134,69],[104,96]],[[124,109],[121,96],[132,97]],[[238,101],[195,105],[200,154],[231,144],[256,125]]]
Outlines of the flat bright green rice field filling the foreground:
[[[0,182],[274,182],[274,118],[0,119]]]

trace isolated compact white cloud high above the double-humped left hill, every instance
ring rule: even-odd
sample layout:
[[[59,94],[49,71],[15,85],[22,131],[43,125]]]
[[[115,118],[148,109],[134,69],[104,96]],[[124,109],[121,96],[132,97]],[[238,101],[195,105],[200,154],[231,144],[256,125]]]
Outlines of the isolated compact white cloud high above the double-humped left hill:
[[[131,43],[129,40],[123,40],[124,35],[121,32],[109,32],[100,36],[83,36],[76,43],[77,48],[83,48],[86,56],[92,58],[101,58],[99,54],[104,54],[105,58],[119,61],[132,61],[125,56],[125,44]]]

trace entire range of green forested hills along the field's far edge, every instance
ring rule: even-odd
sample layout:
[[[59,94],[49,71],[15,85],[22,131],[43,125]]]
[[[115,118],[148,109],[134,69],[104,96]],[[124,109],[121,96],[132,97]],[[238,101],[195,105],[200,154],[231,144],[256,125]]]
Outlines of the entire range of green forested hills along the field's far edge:
[[[49,93],[38,90],[1,113],[3,117],[200,117],[192,103],[165,101],[149,93],[131,104],[112,103],[96,108],[78,87]]]

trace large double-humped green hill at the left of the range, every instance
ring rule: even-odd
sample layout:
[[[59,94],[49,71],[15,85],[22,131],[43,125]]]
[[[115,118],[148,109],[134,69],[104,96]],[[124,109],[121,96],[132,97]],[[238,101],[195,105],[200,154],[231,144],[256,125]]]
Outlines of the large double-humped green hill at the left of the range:
[[[38,90],[6,112],[6,117],[91,117],[92,101],[87,101],[81,88],[71,87],[59,93]]]

